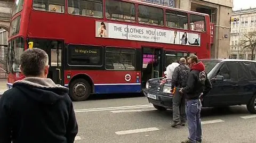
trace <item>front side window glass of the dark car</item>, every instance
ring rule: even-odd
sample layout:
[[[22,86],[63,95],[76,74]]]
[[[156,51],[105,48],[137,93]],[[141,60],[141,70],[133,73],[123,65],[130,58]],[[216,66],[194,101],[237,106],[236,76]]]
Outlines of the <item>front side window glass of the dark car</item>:
[[[217,74],[222,75],[224,80],[238,81],[237,62],[223,63]]]

